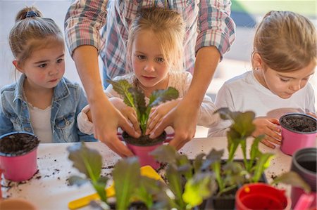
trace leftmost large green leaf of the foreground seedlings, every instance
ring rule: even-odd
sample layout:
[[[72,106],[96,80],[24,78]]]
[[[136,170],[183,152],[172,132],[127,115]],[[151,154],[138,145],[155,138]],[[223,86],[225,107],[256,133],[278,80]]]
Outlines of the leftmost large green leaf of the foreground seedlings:
[[[85,143],[67,147],[68,159],[73,162],[73,167],[84,173],[87,178],[97,181],[101,173],[102,159],[98,150],[88,148]]]

